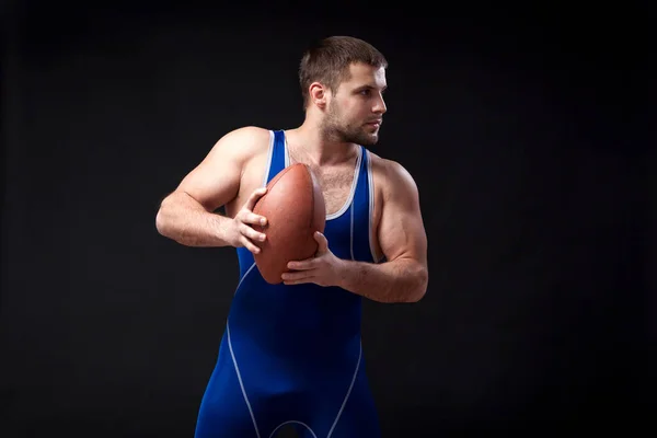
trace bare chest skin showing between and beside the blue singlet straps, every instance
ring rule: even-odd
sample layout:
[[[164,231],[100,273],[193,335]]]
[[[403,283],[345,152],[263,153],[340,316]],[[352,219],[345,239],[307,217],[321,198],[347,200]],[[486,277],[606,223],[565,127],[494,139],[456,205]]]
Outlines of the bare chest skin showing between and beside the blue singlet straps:
[[[267,169],[268,146],[268,141],[263,142],[263,147],[246,163],[242,173],[239,194],[231,203],[227,204],[226,206],[226,212],[228,216],[234,217],[234,215],[237,215],[237,212],[244,206],[253,191],[263,185],[263,178]],[[380,158],[371,152],[369,155],[372,160],[372,180],[374,186],[372,243],[376,255],[378,258],[380,258],[382,256],[382,252],[377,239],[377,230],[379,224],[379,218],[381,217],[382,204],[382,181],[380,172],[378,172],[380,168],[378,165]],[[339,211],[347,201],[347,198],[349,197],[349,194],[351,192],[351,185],[354,184],[354,171],[356,160],[357,155],[356,153],[354,153],[354,155],[345,162],[332,165],[316,166],[310,164],[307,160],[304,160],[302,153],[300,153],[298,150],[292,149],[292,151],[290,152],[290,163],[302,162],[306,164],[310,164],[311,170],[318,177],[318,183],[322,187],[327,216]]]

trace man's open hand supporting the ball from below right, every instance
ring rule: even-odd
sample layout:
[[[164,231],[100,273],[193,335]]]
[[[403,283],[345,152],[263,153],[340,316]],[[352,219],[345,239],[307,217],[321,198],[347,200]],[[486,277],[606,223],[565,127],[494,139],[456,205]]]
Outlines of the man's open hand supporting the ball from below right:
[[[315,231],[313,238],[319,243],[318,252],[311,258],[289,262],[288,268],[295,272],[283,274],[285,285],[314,283],[320,286],[337,286],[344,261],[328,250],[328,241],[324,234]]]

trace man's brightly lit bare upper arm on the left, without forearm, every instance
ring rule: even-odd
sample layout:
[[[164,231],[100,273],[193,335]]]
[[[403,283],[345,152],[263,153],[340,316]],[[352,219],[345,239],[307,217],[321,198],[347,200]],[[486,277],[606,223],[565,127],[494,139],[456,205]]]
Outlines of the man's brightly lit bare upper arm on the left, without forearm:
[[[181,181],[177,192],[196,199],[208,211],[226,205],[240,189],[242,170],[262,132],[241,128],[223,136],[205,159]]]

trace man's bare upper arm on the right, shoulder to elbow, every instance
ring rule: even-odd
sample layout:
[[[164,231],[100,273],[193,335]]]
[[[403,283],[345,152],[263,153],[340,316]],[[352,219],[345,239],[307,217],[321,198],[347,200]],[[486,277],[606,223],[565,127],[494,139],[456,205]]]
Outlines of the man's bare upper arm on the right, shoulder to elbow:
[[[379,245],[388,261],[412,258],[426,265],[427,238],[417,186],[400,164],[391,168],[382,189]]]

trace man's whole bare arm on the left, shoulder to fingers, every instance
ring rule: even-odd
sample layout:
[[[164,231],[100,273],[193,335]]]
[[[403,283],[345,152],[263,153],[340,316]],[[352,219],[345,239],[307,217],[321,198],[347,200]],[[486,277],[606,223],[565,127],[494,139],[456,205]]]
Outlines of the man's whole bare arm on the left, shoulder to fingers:
[[[162,200],[155,218],[160,234],[188,246],[250,246],[256,251],[244,234],[251,233],[252,238],[257,234],[244,226],[260,220],[250,210],[263,191],[252,194],[244,206],[249,211],[240,212],[240,221],[215,210],[235,198],[244,166],[263,141],[268,140],[267,130],[246,127],[217,141],[207,157]]]

